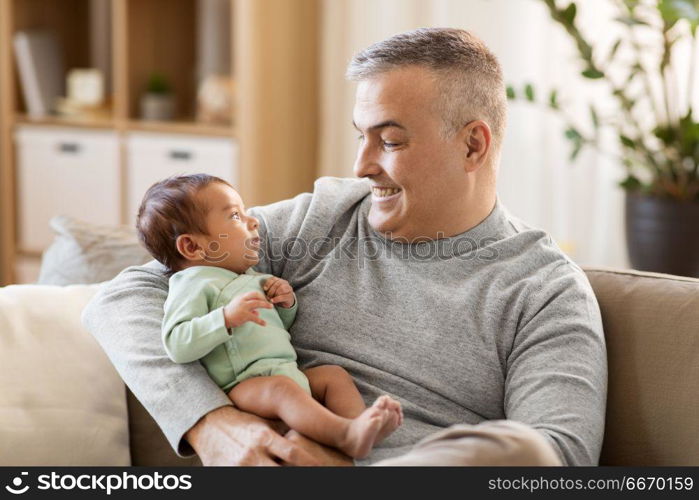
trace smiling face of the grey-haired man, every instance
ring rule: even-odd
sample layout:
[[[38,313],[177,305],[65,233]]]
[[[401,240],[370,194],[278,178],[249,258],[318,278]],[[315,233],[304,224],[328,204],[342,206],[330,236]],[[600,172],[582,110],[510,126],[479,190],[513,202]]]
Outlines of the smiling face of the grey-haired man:
[[[438,90],[428,69],[408,66],[359,82],[354,165],[372,183],[369,223],[390,238],[448,234],[463,207],[468,148],[460,134],[442,137]]]

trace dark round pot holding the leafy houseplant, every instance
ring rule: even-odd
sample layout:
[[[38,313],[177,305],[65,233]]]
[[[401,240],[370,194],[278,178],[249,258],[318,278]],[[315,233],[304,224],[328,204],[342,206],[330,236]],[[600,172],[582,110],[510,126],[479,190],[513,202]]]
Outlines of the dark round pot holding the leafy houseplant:
[[[699,202],[627,192],[626,247],[635,269],[699,278]]]

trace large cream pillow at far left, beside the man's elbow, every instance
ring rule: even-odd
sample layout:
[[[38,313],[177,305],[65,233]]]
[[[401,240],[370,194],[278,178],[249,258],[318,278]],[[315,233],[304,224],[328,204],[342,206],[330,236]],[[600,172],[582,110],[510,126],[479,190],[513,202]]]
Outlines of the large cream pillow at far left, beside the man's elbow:
[[[130,465],[126,388],[80,323],[97,287],[0,288],[0,465]]]

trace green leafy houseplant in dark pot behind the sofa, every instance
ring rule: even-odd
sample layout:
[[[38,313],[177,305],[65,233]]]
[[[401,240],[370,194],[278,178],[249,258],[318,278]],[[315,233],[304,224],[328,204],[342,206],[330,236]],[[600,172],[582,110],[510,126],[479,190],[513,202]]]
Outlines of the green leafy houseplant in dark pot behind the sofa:
[[[587,147],[604,152],[600,132],[611,129],[625,170],[620,186],[626,191],[632,265],[699,277],[699,122],[692,109],[699,0],[609,0],[624,35],[604,51],[580,30],[575,2],[538,1],[572,38],[581,76],[604,85],[617,109],[605,116],[591,103],[588,123],[580,123],[570,118],[556,89],[549,89],[542,102],[531,84],[508,86],[508,98],[542,102],[559,113],[566,122],[571,160]],[[676,67],[673,49],[679,41],[691,46],[689,67]],[[684,109],[678,69],[687,76]]]

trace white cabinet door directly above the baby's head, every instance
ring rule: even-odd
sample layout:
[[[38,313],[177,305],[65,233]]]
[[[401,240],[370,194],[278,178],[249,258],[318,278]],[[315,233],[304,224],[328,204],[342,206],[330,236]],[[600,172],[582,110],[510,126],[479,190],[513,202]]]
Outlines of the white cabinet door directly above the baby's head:
[[[205,173],[233,186],[238,182],[237,145],[232,139],[133,133],[127,149],[129,224],[135,223],[148,188],[166,177]]]

